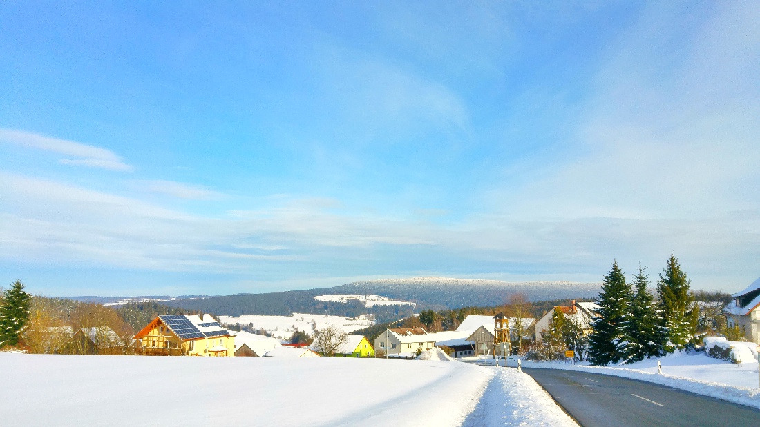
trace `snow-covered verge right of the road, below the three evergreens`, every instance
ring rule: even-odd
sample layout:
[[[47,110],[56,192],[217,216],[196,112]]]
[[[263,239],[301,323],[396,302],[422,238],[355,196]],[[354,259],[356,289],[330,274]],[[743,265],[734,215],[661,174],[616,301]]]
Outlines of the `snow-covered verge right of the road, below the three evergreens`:
[[[510,366],[514,364],[510,362]],[[657,359],[618,366],[523,361],[525,368],[567,369],[638,379],[760,409],[758,364],[754,360],[736,364],[713,359],[705,353],[682,353],[662,357],[660,364],[662,374],[657,373]]]

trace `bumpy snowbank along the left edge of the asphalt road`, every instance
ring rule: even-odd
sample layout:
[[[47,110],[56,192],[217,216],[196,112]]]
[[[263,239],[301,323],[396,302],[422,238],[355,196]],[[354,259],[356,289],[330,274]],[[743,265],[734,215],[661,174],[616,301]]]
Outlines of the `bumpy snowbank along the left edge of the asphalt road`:
[[[463,427],[578,426],[530,375],[517,369],[489,369],[498,369],[498,372],[480,403],[464,420]]]

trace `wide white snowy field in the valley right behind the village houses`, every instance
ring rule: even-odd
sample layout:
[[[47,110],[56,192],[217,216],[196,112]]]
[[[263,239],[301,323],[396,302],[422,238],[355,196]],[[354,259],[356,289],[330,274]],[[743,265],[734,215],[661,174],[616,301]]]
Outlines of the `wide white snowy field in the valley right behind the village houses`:
[[[242,315],[239,317],[219,316],[219,320],[227,325],[239,323],[247,325],[252,323],[255,328],[263,328],[275,338],[280,340],[290,340],[290,336],[298,328],[307,334],[314,334],[312,321],[316,322],[317,328],[324,328],[328,325],[335,325],[344,330],[347,334],[353,331],[372,326],[375,322],[369,320],[367,316],[359,316],[352,319],[342,316],[325,316],[319,314],[293,313],[293,316],[264,316],[264,315]]]

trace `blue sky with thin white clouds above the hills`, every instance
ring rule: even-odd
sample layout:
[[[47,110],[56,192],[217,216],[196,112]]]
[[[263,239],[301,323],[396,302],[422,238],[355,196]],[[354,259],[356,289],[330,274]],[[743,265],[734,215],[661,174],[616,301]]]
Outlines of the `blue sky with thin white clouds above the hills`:
[[[0,286],[760,276],[758,2],[0,2]]]

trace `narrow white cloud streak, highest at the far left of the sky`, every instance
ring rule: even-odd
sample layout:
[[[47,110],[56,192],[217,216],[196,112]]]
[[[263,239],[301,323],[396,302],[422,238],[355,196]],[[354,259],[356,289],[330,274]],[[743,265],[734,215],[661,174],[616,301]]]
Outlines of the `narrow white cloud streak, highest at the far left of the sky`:
[[[39,133],[0,128],[0,143],[41,149],[75,158],[59,160],[63,165],[80,165],[109,171],[131,171],[133,169],[131,165],[122,162],[119,155],[108,149],[46,137]]]

